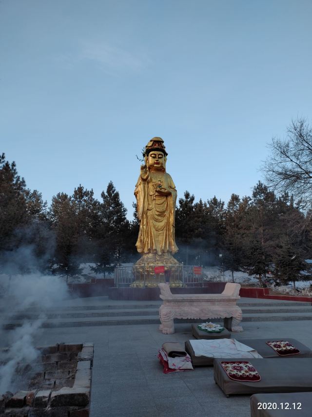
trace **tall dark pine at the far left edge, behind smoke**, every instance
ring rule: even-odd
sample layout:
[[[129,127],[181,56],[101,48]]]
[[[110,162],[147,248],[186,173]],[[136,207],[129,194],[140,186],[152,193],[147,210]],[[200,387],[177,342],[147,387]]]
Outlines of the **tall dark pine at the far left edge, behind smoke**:
[[[9,164],[4,154],[0,155],[0,230],[1,263],[13,262],[19,272],[48,267],[54,239],[46,219],[46,202],[37,190],[26,188],[15,162]]]

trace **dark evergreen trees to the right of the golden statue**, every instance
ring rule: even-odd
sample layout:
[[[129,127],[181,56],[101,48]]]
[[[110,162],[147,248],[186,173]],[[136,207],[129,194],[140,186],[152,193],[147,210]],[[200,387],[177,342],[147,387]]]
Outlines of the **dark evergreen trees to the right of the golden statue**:
[[[256,275],[259,284],[311,279],[311,213],[284,192],[276,196],[258,182],[251,197],[232,194],[227,206],[216,197],[207,202],[189,192],[176,209],[178,257],[187,264]]]

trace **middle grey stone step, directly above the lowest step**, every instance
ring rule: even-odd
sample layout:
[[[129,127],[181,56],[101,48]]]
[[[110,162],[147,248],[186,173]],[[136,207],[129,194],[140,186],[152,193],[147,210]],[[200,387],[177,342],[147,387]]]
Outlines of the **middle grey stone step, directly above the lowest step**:
[[[114,307],[114,306],[112,306]],[[240,306],[242,307],[242,306]],[[257,308],[254,308],[257,307]],[[242,308],[243,315],[246,314],[262,314],[262,313],[268,313],[268,314],[274,314],[274,313],[312,313],[312,307],[293,307],[293,308],[287,308],[287,307],[280,307],[280,308],[268,308],[264,306],[253,306],[253,307],[243,307]],[[147,316],[147,315],[155,315],[158,316],[159,314],[159,308],[149,308],[149,309],[132,309],[132,308],[125,308],[123,310],[121,309],[112,309],[110,311],[93,311],[93,312],[77,312],[77,313],[70,313],[70,312],[63,312],[60,311],[58,313],[47,313],[45,314],[45,319],[78,319],[78,318],[97,318],[97,317],[118,317],[118,316]],[[22,314],[15,314],[11,320],[37,320],[40,318],[39,313],[22,313]]]

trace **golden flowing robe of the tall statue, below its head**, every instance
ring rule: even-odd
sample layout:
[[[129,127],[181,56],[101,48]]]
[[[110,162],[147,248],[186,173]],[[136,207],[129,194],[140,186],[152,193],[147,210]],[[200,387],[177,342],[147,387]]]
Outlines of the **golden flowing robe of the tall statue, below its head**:
[[[169,195],[159,195],[159,184],[171,191]],[[141,254],[172,255],[178,248],[175,242],[176,186],[166,172],[150,172],[146,180],[138,177],[135,196],[140,230],[137,251]],[[171,258],[171,257],[170,257]]]

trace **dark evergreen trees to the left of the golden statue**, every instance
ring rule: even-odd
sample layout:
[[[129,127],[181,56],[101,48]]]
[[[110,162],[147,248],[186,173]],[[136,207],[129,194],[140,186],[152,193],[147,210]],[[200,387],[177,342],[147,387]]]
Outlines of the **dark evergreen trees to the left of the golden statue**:
[[[72,195],[58,193],[51,206],[41,193],[26,187],[15,162],[0,155],[0,268],[19,263],[20,272],[31,263],[41,271],[76,275],[80,263],[95,263],[94,271],[103,273],[114,265],[132,261],[136,254],[137,220],[126,218],[127,210],[112,182],[101,201],[93,190],[82,185]],[[21,248],[28,248],[23,251]],[[31,262],[25,252],[31,248]],[[26,268],[26,269],[24,269]],[[14,267],[13,267],[14,269]]]

